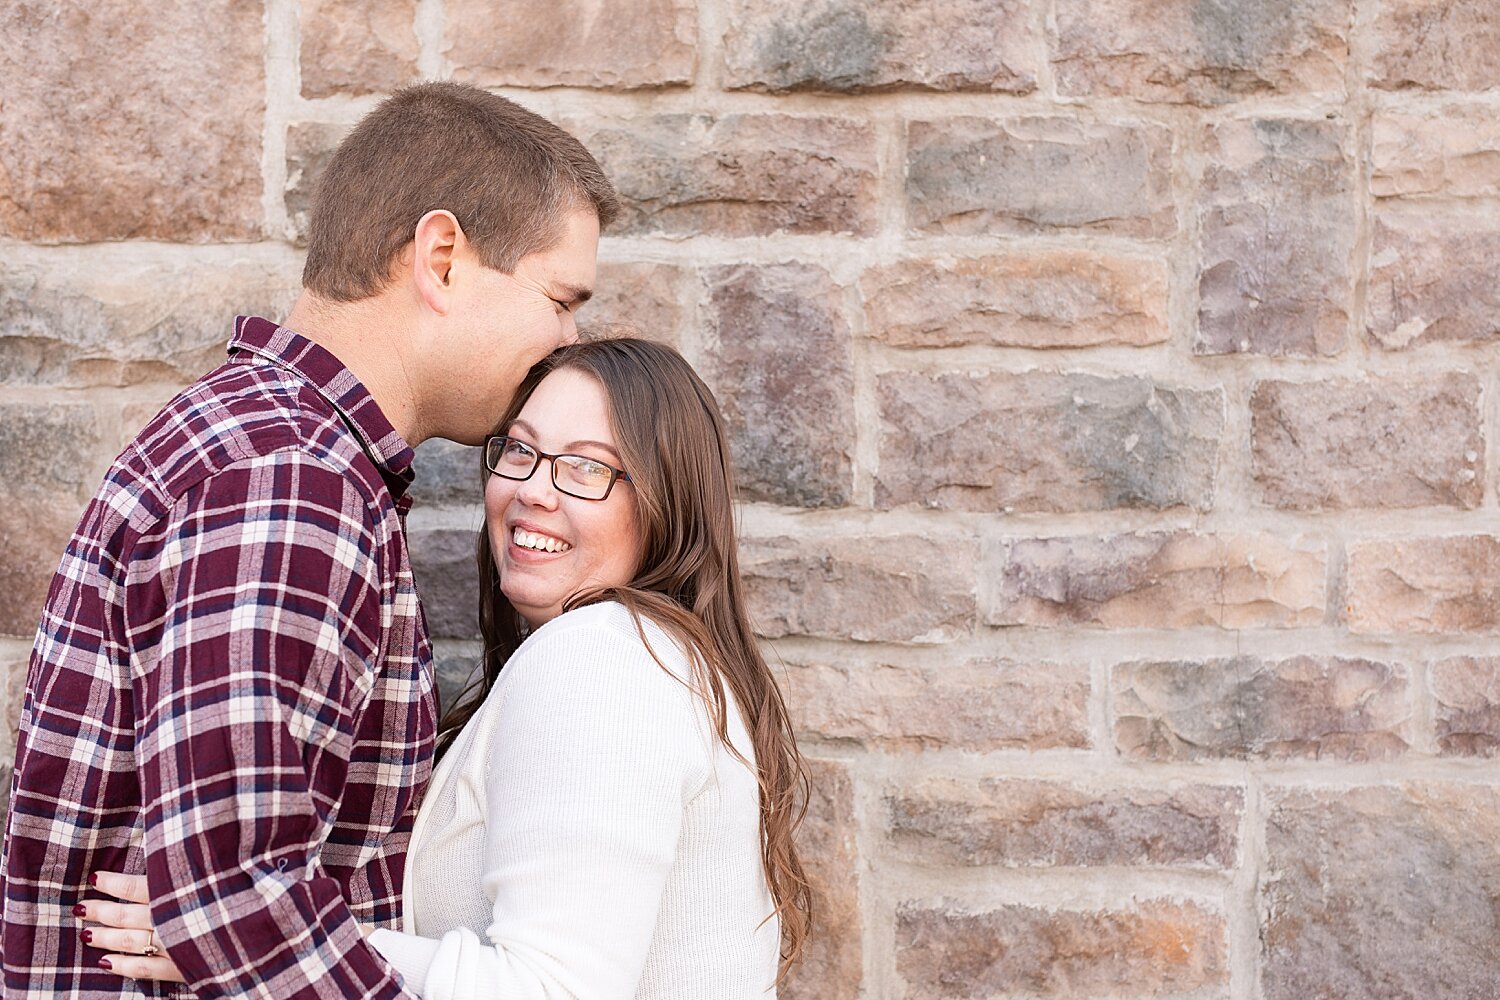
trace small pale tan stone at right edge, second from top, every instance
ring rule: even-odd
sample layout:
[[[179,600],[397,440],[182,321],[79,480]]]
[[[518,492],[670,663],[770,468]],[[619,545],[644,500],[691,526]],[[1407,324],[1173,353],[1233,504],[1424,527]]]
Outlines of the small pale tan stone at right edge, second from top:
[[[1370,127],[1370,193],[1377,198],[1500,195],[1500,117],[1494,108],[1376,111]]]

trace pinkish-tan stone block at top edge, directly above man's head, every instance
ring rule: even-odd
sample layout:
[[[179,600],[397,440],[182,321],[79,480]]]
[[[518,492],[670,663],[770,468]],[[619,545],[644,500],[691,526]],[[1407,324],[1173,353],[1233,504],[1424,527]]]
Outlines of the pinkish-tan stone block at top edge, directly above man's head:
[[[693,79],[692,0],[447,0],[453,78],[480,87],[658,87]]]

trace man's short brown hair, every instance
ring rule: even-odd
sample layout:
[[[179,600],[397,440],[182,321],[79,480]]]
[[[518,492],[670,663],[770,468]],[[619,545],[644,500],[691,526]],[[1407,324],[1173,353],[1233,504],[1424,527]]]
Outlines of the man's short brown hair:
[[[386,286],[417,222],[446,208],[486,267],[510,273],[552,247],[562,219],[620,213],[584,144],[542,115],[453,82],[398,90],[350,132],[318,180],[303,286],[356,301]]]

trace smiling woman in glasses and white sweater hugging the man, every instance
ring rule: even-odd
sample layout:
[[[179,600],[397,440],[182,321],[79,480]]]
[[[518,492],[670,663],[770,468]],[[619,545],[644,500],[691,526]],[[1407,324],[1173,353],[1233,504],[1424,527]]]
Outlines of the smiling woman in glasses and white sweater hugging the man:
[[[806,777],[746,615],[714,397],[668,348],[579,343],[501,427],[483,676],[442,721],[405,933],[370,945],[428,1000],[774,996],[808,927]],[[174,978],[114,930],[142,912],[92,943]]]

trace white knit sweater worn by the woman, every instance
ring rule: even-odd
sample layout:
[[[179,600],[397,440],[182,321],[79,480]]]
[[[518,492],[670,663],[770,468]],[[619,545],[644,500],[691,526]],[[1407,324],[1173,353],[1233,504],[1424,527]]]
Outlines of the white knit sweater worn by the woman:
[[[620,604],[548,622],[438,765],[406,933],[370,937],[426,1000],[776,996],[756,778],[646,636],[670,675]],[[753,760],[732,700],[729,735]]]

